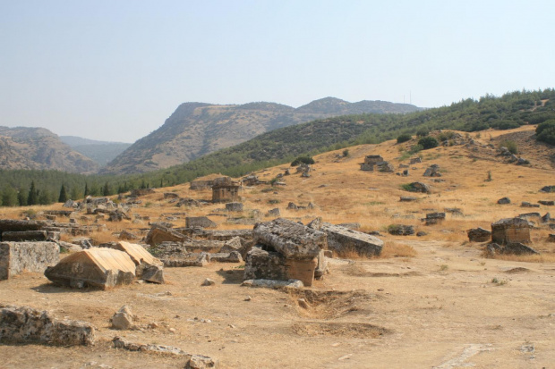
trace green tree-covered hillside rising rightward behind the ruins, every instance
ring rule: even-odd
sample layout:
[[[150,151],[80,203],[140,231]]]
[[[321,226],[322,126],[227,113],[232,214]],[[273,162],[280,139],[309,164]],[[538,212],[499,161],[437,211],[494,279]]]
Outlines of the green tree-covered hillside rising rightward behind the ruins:
[[[466,99],[423,112],[399,114],[354,114],[322,119],[264,133],[257,138],[202,156],[187,164],[165,170],[125,176],[82,176],[63,172],[3,171],[0,190],[13,199],[19,190],[36,188],[57,199],[64,184],[73,197],[87,191],[93,195],[113,194],[138,187],[175,185],[198,176],[221,172],[240,176],[270,165],[290,162],[297,155],[366,143],[378,143],[399,135],[429,130],[507,130],[524,124],[540,124],[544,142],[555,138],[555,89],[517,91],[500,97]],[[551,136],[552,135],[552,136]],[[10,197],[7,196],[7,197]],[[7,198],[6,197],[6,198]],[[55,201],[52,199],[52,201]],[[11,205],[6,204],[4,205]]]

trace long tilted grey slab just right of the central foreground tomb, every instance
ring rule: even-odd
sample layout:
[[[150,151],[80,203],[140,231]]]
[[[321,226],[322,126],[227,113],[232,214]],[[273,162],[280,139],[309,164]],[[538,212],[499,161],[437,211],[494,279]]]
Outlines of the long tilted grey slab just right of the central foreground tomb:
[[[328,248],[339,256],[355,252],[359,256],[379,256],[383,241],[375,236],[340,225],[322,222],[320,231],[328,235]]]

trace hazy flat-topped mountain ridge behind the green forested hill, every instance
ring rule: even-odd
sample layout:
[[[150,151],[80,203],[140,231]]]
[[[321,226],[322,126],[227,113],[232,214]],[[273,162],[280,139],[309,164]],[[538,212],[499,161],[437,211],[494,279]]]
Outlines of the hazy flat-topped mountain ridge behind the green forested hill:
[[[158,130],[137,140],[101,172],[156,171],[238,145],[271,130],[334,115],[419,110],[408,104],[380,100],[349,103],[337,97],[324,97],[298,108],[264,101],[243,105],[188,102],[179,105]]]

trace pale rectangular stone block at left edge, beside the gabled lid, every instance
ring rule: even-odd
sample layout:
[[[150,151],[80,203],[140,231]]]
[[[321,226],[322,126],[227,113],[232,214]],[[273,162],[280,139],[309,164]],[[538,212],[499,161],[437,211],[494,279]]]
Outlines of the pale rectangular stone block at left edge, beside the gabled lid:
[[[27,272],[42,273],[60,259],[60,247],[54,242],[0,243],[0,281]]]

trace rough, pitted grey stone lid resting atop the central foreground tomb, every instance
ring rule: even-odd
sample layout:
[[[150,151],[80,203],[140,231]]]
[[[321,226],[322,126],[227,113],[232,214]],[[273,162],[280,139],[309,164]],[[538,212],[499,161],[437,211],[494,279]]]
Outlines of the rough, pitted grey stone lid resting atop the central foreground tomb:
[[[272,247],[286,258],[312,259],[328,248],[326,233],[282,218],[258,223],[252,236],[255,244]]]

